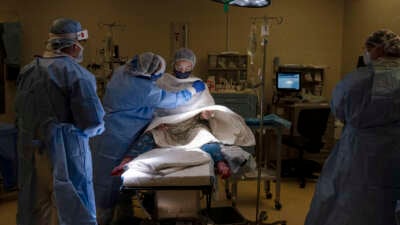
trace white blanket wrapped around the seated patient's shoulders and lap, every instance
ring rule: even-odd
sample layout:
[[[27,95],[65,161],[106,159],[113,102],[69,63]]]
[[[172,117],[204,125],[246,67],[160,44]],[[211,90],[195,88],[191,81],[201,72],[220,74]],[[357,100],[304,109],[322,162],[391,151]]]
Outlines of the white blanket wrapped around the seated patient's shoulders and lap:
[[[165,74],[157,85],[168,91],[182,90],[192,86],[192,83],[200,80],[197,77],[178,79],[171,74]],[[186,135],[186,142],[176,141],[173,134],[165,129],[156,129],[162,124],[176,124],[197,116],[203,111],[211,111],[212,117],[208,120],[210,129],[196,127]],[[183,106],[175,109],[157,109],[156,117],[147,127],[146,131],[153,134],[155,142],[160,147],[182,146],[184,148],[199,148],[209,142],[221,142],[226,145],[253,146],[255,138],[251,129],[243,118],[222,105],[215,105],[208,88],[196,94]]]

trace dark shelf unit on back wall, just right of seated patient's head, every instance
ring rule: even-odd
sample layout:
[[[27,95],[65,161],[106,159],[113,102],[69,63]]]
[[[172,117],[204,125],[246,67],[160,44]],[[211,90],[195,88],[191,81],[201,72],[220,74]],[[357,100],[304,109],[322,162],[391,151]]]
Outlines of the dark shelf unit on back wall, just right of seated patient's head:
[[[208,54],[208,74],[215,77],[217,89],[224,89],[225,87],[221,87],[224,82],[238,84],[247,80],[247,68],[246,54]]]

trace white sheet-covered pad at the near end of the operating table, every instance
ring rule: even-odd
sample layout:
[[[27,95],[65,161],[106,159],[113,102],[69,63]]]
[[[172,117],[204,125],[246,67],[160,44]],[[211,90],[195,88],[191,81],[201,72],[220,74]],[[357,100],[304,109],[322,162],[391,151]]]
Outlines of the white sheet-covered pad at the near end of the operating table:
[[[201,150],[154,149],[127,166],[121,175],[127,187],[212,185],[215,176],[210,156]]]

